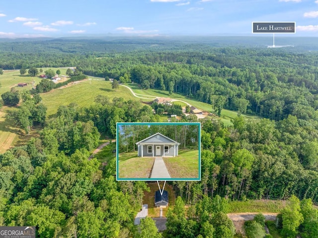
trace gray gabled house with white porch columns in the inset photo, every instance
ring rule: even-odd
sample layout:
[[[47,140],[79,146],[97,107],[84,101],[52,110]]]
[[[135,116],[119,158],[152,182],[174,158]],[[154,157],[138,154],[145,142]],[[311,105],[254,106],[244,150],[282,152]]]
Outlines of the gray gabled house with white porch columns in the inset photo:
[[[160,134],[159,132],[137,142],[139,157],[177,156],[180,143]]]

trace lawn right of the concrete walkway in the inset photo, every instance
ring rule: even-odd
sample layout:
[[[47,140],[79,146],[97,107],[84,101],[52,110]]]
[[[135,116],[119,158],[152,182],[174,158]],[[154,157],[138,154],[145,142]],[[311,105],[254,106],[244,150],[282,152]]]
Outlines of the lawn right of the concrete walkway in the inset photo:
[[[199,151],[179,150],[176,157],[163,158],[171,178],[198,178]]]

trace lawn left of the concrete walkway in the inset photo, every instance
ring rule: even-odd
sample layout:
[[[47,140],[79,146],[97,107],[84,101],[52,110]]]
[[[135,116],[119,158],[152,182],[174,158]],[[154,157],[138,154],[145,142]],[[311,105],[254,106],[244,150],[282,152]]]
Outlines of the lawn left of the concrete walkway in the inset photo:
[[[118,156],[118,178],[149,178],[155,158],[137,157],[137,152]]]

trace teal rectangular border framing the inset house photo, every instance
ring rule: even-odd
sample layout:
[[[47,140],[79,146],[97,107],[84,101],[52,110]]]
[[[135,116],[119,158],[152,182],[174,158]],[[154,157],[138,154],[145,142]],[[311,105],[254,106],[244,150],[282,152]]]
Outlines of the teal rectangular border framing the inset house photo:
[[[117,122],[116,123],[116,180],[117,181],[158,181],[156,178],[119,178],[119,126],[120,125],[197,125],[198,126],[198,150],[199,150],[199,176],[198,178],[162,178],[160,181],[201,181],[201,123],[200,122]]]

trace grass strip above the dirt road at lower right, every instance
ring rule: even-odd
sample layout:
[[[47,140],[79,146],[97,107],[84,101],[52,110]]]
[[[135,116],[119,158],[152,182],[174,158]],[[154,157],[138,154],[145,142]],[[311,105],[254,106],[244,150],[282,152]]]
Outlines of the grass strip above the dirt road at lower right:
[[[248,200],[229,201],[229,213],[239,212],[280,212],[285,207],[285,201],[281,200]]]

